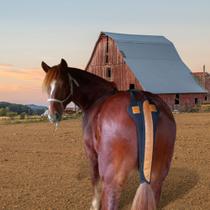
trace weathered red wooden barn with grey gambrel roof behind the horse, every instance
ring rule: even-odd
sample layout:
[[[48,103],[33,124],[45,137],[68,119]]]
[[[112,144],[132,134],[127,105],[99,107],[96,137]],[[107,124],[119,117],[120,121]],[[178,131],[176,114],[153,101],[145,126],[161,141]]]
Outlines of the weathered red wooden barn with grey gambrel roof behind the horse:
[[[191,109],[205,100],[204,90],[163,36],[102,32],[86,70],[114,81],[119,90],[158,94],[171,109]]]

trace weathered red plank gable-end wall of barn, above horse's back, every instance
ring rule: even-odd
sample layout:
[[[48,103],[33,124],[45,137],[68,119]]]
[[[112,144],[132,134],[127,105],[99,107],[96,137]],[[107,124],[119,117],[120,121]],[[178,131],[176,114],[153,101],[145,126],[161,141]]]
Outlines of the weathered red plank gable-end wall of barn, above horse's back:
[[[106,63],[107,39],[108,62]],[[111,68],[111,78],[106,76],[107,68]],[[135,88],[142,89],[135,75],[124,62],[123,56],[119,52],[115,42],[111,38],[107,38],[107,36],[100,37],[86,70],[104,79],[115,82],[119,90],[128,90],[130,84],[134,84]]]

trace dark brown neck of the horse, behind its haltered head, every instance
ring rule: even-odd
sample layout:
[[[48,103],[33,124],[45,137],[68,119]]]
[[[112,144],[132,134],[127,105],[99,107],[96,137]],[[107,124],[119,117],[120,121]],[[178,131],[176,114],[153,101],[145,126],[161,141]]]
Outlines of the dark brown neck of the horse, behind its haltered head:
[[[115,88],[109,82],[99,81],[100,78],[93,78],[83,70],[77,71],[72,72],[72,76],[79,83],[79,87],[75,88],[73,94],[73,102],[83,111],[88,110],[99,99],[106,98],[115,92]]]

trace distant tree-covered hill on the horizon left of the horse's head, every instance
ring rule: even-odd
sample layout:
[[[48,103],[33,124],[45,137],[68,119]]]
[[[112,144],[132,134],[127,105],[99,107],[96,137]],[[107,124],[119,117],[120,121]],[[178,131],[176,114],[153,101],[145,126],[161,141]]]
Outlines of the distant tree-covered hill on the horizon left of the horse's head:
[[[45,106],[38,106],[34,104],[23,105],[9,102],[0,102],[0,109],[7,109],[9,112],[16,112],[17,114],[26,113],[28,115],[41,115],[47,110]]]

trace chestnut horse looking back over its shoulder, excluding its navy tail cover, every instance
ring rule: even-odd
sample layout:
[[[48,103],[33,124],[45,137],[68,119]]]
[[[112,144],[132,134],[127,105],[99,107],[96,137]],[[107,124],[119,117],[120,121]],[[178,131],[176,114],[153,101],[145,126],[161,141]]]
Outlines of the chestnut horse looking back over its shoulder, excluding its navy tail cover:
[[[93,186],[90,209],[117,210],[124,183],[131,171],[139,169],[136,124],[128,114],[130,93],[119,91],[114,82],[68,67],[64,59],[52,67],[45,62],[41,66],[46,72],[43,87],[48,94],[49,120],[59,123],[70,102],[83,111],[84,145]],[[151,181],[140,183],[131,209],[154,210],[171,165],[176,123],[170,108],[158,95],[146,91],[138,94],[153,103],[159,115],[152,152]],[[102,187],[99,187],[100,183]]]

